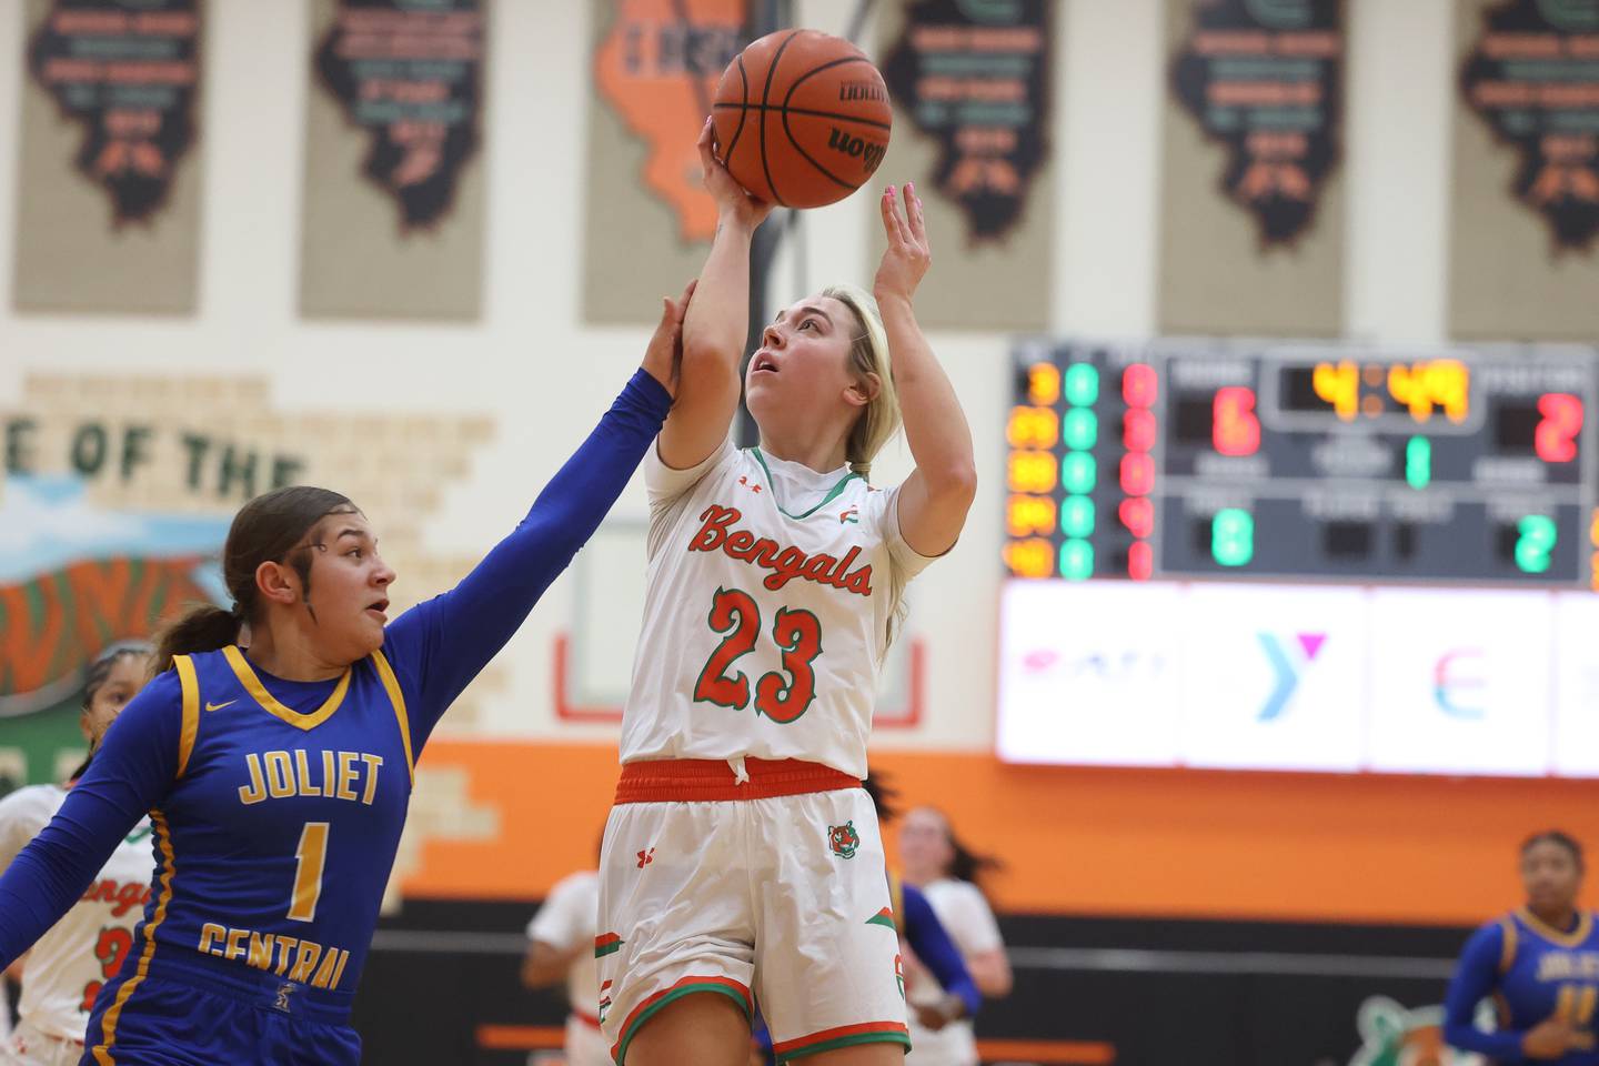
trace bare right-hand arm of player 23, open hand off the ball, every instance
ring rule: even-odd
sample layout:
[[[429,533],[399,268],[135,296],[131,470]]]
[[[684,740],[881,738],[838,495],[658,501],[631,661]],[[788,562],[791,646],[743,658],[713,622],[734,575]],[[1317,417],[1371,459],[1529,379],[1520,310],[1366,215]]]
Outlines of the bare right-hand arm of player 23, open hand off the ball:
[[[900,487],[900,535],[919,555],[932,556],[955,547],[966,526],[966,511],[977,494],[977,460],[961,401],[911,308],[916,286],[932,265],[932,251],[915,185],[905,184],[903,200],[902,211],[894,185],[883,193],[879,206],[889,246],[871,294],[878,300],[894,358],[894,388],[905,420],[905,441],[916,460],[916,470]]]

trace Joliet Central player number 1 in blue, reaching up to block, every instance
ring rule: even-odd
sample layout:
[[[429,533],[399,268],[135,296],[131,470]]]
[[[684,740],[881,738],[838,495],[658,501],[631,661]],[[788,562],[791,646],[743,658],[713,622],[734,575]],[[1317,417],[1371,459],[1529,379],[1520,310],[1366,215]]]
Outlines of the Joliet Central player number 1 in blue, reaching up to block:
[[[660,432],[688,299],[665,300],[643,369],[516,529],[392,625],[395,574],[350,500],[301,486],[238,511],[232,611],[166,631],[158,676],[0,877],[3,970],[150,815],[150,903],[96,999],[85,1066],[360,1061],[349,1008],[416,756]]]

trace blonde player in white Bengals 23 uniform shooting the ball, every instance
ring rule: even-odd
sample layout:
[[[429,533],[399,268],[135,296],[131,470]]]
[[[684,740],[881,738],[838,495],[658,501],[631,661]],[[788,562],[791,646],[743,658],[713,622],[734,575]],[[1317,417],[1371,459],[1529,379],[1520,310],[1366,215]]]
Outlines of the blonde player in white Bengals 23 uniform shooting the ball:
[[[876,670],[905,583],[955,545],[972,438],[911,310],[921,201],[881,198],[868,296],[777,315],[739,404],[750,237],[769,213],[700,136],[720,222],[644,460],[649,580],[601,860],[601,1023],[622,1066],[744,1066],[752,999],[779,1061],[899,1063],[899,940],[867,774]],[[875,297],[875,299],[873,299]],[[871,459],[903,417],[916,470]]]

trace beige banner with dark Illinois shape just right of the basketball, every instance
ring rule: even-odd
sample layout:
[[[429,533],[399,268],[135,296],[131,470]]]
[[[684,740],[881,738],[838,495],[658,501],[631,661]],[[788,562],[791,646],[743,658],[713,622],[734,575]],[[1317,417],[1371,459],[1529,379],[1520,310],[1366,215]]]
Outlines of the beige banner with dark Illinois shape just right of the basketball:
[[[863,278],[883,254],[878,193],[889,182],[916,182],[939,261],[918,289],[924,326],[1049,326],[1054,6],[907,0],[884,8],[881,69],[897,118],[878,184],[862,193],[873,200]]]

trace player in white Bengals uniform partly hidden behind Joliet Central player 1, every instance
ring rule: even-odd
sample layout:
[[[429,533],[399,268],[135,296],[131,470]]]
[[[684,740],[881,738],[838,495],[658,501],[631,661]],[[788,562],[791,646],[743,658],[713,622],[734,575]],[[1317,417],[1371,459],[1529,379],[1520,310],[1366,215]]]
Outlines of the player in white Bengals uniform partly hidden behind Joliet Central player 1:
[[[149,647],[123,644],[90,666],[78,724],[91,759],[117,714],[144,687],[149,658]],[[86,767],[88,762],[72,778]],[[66,788],[30,785],[0,799],[0,869],[50,823],[66,798]],[[150,823],[141,821],[117,845],[83,898],[27,954],[18,1002],[21,1020],[0,1045],[0,1064],[75,1066],[83,1056],[94,996],[117,975],[133,946],[133,927],[144,917],[154,871]]]

